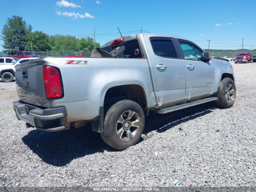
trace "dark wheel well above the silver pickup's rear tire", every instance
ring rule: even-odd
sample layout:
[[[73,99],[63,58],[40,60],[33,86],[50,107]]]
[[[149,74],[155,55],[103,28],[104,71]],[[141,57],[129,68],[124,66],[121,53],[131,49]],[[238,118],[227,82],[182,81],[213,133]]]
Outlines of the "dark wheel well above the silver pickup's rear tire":
[[[142,108],[147,106],[144,89],[136,84],[115,86],[108,89],[104,98],[104,106],[114,104],[123,99],[137,102]]]

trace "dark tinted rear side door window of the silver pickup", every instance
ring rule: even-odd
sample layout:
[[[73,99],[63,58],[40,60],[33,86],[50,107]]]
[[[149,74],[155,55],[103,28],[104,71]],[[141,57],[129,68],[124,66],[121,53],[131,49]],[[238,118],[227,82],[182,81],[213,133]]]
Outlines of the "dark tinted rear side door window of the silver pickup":
[[[154,53],[160,57],[177,58],[177,52],[171,38],[150,38]]]

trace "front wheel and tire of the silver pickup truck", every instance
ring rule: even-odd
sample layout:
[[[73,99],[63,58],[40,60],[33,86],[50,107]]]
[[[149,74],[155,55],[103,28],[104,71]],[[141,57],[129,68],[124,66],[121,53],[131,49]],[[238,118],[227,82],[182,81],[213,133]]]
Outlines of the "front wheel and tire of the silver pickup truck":
[[[231,87],[228,86],[231,84]],[[228,91],[227,91],[228,90]],[[216,105],[220,108],[230,108],[236,99],[236,85],[231,78],[224,78],[220,82],[220,98],[216,101]]]

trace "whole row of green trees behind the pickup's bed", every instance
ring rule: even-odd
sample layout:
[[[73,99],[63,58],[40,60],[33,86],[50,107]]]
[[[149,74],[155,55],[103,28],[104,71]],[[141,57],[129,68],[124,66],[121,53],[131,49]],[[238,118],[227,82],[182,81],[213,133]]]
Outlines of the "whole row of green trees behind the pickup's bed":
[[[26,24],[20,16],[7,18],[2,29],[1,39],[4,53],[17,51],[91,51],[94,48],[92,38],[76,38],[69,35],[48,35],[42,31],[32,32],[32,26]],[[95,42],[96,47],[100,44]]]

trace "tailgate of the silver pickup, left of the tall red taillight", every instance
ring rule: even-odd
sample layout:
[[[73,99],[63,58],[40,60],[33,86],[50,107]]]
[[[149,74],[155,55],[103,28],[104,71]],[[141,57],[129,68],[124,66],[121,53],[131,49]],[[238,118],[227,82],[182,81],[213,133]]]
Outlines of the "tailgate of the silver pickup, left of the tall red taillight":
[[[50,107],[44,92],[43,64],[44,61],[39,59],[16,66],[16,86],[22,102]]]

